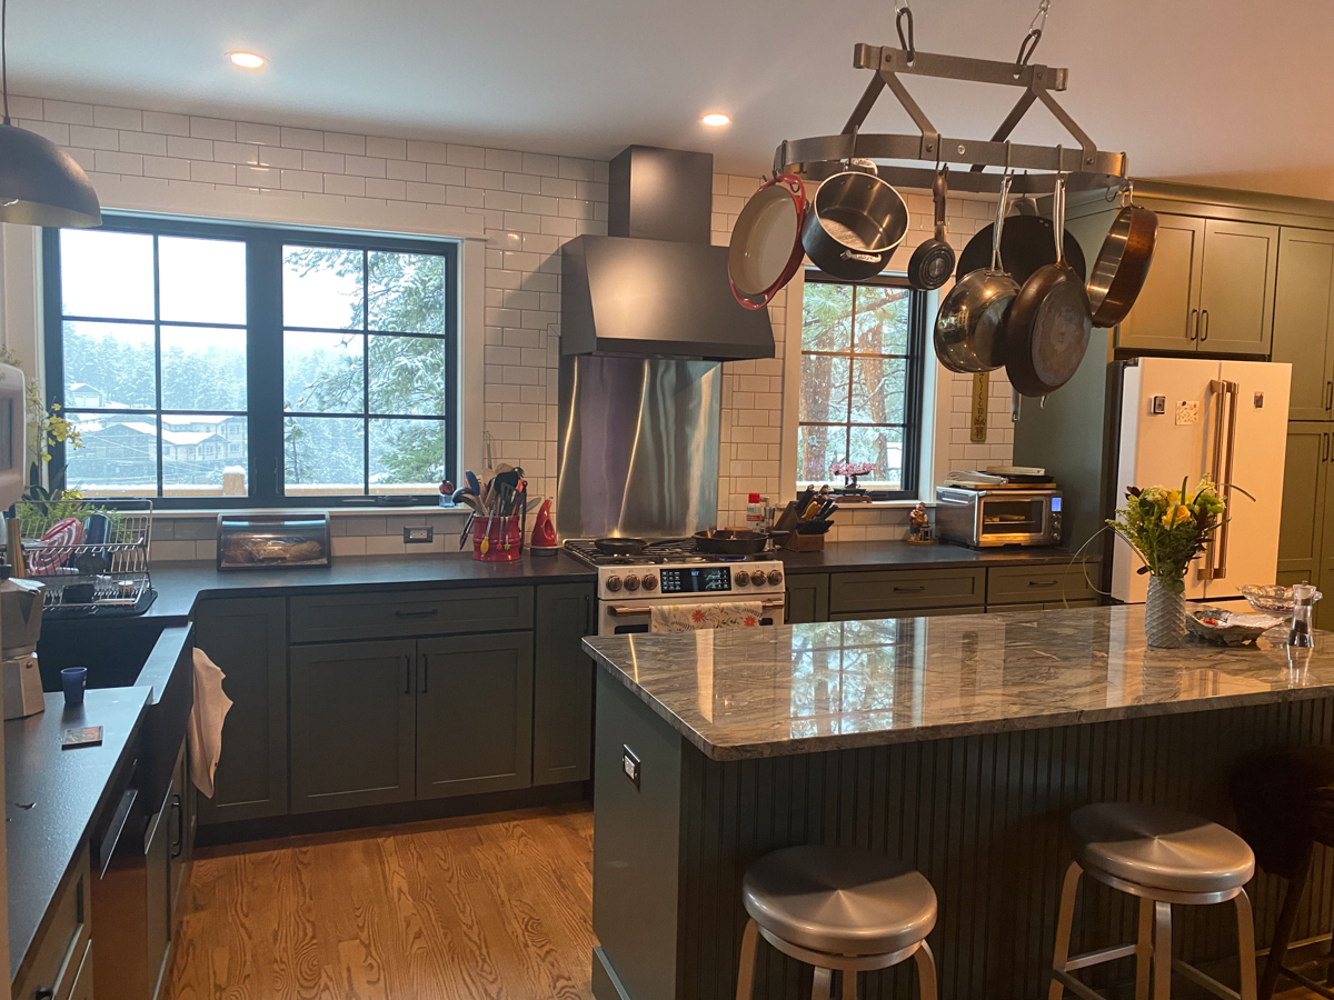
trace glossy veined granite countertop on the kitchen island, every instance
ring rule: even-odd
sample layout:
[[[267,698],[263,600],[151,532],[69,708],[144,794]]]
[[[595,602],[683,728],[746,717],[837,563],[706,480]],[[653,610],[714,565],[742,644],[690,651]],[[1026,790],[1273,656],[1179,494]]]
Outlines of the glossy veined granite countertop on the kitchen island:
[[[1143,607],[590,637],[714,760],[1334,697],[1334,633],[1146,649]],[[1290,663],[1289,656],[1294,657]]]

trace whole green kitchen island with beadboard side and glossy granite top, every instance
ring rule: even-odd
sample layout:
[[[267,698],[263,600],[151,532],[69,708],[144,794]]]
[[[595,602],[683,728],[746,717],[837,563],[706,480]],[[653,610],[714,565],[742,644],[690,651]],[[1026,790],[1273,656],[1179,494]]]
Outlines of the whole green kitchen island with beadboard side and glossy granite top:
[[[602,668],[599,1000],[732,996],[744,869],[806,843],[894,855],[931,880],[940,917],[928,940],[946,1000],[1038,996],[1073,808],[1150,801],[1227,823],[1237,761],[1334,741],[1334,635],[1318,633],[1301,659],[1263,639],[1146,649],[1139,607],[618,636],[584,648]],[[1298,940],[1329,931],[1334,871],[1318,871]],[[1263,945],[1278,885],[1259,876],[1251,891]],[[1126,897],[1093,884],[1082,899],[1079,951],[1134,939]],[[1235,952],[1226,907],[1181,908],[1177,925],[1186,957]],[[762,957],[756,996],[808,991],[808,969],[770,948]],[[907,967],[872,973],[863,995],[906,997],[911,977]]]

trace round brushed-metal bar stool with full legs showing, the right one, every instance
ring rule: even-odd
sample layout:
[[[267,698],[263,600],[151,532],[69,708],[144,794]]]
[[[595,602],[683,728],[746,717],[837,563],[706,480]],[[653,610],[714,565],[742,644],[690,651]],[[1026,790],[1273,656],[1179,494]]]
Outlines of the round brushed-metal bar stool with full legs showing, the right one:
[[[1075,860],[1066,869],[1061,888],[1047,1000],[1061,1000],[1066,988],[1083,1000],[1102,1000],[1070,973],[1131,955],[1135,956],[1135,1000],[1149,997],[1150,965],[1154,1000],[1170,999],[1173,969],[1211,993],[1235,1000],[1238,995],[1218,980],[1171,959],[1173,904],[1198,907],[1229,900],[1237,907],[1241,1000],[1255,1000],[1255,925],[1250,899],[1242,888],[1255,872],[1255,856],[1245,840],[1217,823],[1186,812],[1129,803],[1075,809],[1070,828]],[[1135,944],[1070,955],[1075,892],[1085,873],[1139,897]]]

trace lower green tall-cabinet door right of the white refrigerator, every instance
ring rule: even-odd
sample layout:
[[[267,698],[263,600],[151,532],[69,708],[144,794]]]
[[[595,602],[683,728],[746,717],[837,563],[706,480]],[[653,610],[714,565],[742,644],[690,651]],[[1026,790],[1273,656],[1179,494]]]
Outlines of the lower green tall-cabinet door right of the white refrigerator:
[[[1278,583],[1287,587],[1319,577],[1329,448],[1330,424],[1287,425],[1278,529]]]

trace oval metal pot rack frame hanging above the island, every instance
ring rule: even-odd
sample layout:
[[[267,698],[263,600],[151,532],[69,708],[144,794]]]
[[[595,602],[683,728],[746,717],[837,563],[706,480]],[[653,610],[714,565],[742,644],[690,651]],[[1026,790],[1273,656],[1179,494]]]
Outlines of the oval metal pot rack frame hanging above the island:
[[[987,173],[987,167],[1002,172],[1007,168],[1015,171],[1013,191],[1023,195],[1050,193],[1055,189],[1057,177],[1062,175],[1071,191],[1123,187],[1129,169],[1126,155],[1098,149],[1053,96],[1066,89],[1070,71],[1027,65],[1022,61],[1022,55],[1021,52],[1021,61],[1002,63],[918,52],[910,44],[906,48],[892,48],[859,43],[852,49],[852,65],[856,69],[871,69],[875,76],[867,83],[843,131],[836,136],[783,140],[774,151],[774,172],[795,173],[806,180],[819,181],[847,169],[844,164],[854,159],[916,160],[931,165],[876,164],[876,171],[891,184],[930,188],[939,165],[967,164],[967,171],[950,172],[950,189],[974,193],[1000,191],[1002,173]],[[942,136],[931,124],[899,80],[900,73],[1022,87],[1023,93],[990,140],[952,139]],[[868,135],[860,131],[862,123],[886,88],[903,105],[920,135]],[[1074,137],[1074,145],[1023,145],[1010,141],[1010,133],[1037,101],[1046,105]]]

